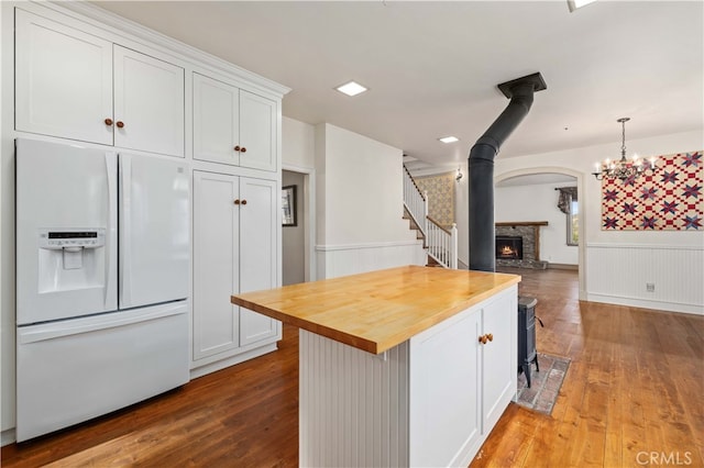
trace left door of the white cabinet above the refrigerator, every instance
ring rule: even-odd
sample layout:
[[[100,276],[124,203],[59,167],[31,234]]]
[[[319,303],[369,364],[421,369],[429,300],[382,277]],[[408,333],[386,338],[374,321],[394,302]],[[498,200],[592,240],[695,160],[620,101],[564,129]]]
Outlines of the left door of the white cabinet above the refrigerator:
[[[15,129],[112,144],[112,44],[16,10]]]

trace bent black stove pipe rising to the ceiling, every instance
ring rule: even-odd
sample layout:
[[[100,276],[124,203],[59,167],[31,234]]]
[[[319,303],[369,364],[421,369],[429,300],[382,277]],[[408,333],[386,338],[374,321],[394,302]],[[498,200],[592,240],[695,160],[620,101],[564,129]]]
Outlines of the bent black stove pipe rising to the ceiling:
[[[528,114],[534,93],[546,89],[546,83],[538,73],[501,83],[498,89],[510,99],[510,102],[472,146],[468,161],[471,270],[496,270],[494,158],[501,145]]]

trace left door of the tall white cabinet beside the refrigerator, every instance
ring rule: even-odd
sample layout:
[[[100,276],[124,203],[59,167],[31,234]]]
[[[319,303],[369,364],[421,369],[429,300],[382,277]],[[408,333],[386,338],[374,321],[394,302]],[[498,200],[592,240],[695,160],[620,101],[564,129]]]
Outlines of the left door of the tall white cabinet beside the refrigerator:
[[[194,360],[240,346],[239,179],[194,170]]]

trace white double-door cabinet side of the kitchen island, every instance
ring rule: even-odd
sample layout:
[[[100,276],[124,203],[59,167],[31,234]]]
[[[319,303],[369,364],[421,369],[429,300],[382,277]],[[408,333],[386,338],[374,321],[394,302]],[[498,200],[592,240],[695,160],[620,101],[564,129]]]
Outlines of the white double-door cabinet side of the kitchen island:
[[[468,466],[516,397],[517,297],[510,288],[410,339],[411,466]]]

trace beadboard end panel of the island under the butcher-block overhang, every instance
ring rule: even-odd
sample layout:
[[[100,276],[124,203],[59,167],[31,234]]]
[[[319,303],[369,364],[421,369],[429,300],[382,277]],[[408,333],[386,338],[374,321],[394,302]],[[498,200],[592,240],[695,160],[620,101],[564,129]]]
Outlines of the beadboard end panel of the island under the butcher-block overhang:
[[[373,355],[299,331],[299,461],[408,466],[408,342]]]

